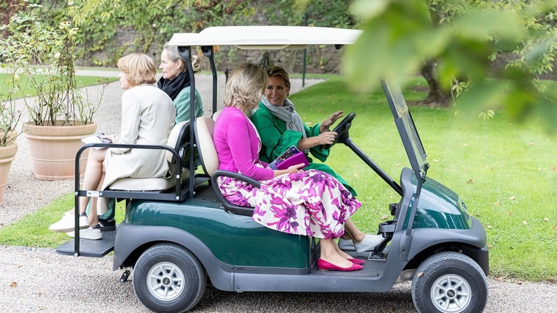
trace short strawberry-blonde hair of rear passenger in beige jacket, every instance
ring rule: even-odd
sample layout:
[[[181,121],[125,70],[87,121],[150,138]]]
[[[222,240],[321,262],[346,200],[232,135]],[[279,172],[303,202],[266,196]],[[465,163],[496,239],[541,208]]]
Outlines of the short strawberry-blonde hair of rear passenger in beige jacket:
[[[133,53],[118,60],[118,69],[128,76],[128,83],[135,87],[142,84],[153,85],[157,81],[153,59],[141,53]]]

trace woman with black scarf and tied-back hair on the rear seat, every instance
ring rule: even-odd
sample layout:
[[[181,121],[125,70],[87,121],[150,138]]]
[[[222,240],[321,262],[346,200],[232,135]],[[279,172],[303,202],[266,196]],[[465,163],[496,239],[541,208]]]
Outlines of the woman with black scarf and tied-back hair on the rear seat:
[[[192,68],[194,73],[199,72],[199,58],[192,57]],[[189,88],[189,74],[185,65],[185,60],[178,48],[169,46],[168,42],[164,44],[163,52],[160,54],[159,69],[163,70],[163,77],[160,77],[157,82],[159,89],[170,96],[176,107],[176,123],[189,120],[189,101],[190,101],[190,88]],[[201,95],[196,89],[195,99],[196,118],[203,115],[203,104],[201,102]]]

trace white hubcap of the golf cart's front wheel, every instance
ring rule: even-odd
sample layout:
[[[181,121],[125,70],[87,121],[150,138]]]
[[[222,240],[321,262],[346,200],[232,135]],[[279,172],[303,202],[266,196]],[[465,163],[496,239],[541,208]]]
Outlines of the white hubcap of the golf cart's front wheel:
[[[462,312],[470,305],[471,300],[470,284],[461,276],[443,275],[431,286],[431,301],[441,312]]]

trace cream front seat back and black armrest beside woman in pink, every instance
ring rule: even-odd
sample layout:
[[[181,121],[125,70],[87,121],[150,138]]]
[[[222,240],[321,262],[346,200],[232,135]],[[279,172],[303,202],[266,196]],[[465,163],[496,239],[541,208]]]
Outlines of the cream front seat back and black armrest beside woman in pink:
[[[218,113],[220,112],[217,111],[213,116],[218,116]],[[224,209],[226,209],[227,211],[234,214],[251,216],[254,208],[235,206],[234,204],[229,203],[226,198],[224,198],[224,195],[222,195],[221,190],[218,188],[217,178],[221,176],[231,177],[234,179],[242,180],[242,182],[246,182],[257,188],[261,187],[261,183],[242,174],[218,169],[219,163],[217,149],[214,147],[213,144],[214,120],[206,118],[205,116],[200,116],[194,121],[193,125],[196,130],[195,134],[197,151],[199,153],[199,159],[201,159],[201,166],[204,172],[207,173],[209,177],[211,177],[211,184],[213,185],[213,189],[217,195],[217,199],[222,203]]]

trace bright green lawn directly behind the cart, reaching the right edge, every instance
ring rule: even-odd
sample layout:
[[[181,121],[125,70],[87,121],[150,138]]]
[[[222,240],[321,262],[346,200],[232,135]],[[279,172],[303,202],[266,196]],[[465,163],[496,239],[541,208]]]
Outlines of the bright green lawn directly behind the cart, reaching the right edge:
[[[419,100],[425,85],[415,79],[404,95]],[[338,77],[311,86],[290,98],[308,125],[336,110],[354,111],[350,136],[385,172],[399,180],[409,167],[393,116],[382,91],[353,95]],[[428,177],[465,200],[468,210],[485,226],[494,276],[526,280],[557,280],[557,138],[535,121],[515,124],[500,111],[491,120],[473,118],[455,108],[411,107],[428,154]],[[354,222],[376,232],[390,218],[388,204],[399,196],[346,146],[335,146],[328,164],[350,182],[364,206]],[[65,234],[46,228],[73,206],[71,194],[0,228],[0,244],[55,247]],[[123,220],[120,206],[116,219]]]

